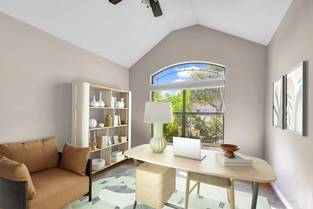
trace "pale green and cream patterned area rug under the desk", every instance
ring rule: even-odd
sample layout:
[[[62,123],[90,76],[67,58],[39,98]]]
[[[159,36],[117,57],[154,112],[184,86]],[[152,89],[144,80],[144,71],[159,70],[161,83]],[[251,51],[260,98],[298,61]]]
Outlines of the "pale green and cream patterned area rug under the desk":
[[[176,191],[168,203],[184,208],[185,173],[177,171]],[[250,209],[252,195],[235,190],[236,209]],[[121,165],[93,179],[92,201],[84,196],[64,209],[133,209],[135,200],[135,167]],[[230,209],[226,189],[201,184],[200,195],[195,188],[189,196],[189,209]],[[137,203],[136,209],[152,209]],[[164,206],[163,209],[171,209]],[[258,196],[257,209],[270,209],[266,197]]]

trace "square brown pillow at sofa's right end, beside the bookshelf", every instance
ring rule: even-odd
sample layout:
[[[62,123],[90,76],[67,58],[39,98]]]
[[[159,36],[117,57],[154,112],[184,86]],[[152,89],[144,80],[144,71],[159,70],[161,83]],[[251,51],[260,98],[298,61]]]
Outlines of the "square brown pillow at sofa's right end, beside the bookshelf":
[[[64,144],[59,167],[85,176],[90,150],[89,147]]]

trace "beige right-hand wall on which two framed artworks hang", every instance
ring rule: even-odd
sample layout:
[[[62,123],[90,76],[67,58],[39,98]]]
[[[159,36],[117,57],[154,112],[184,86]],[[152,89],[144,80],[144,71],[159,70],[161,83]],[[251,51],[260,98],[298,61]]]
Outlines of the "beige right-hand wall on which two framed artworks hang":
[[[268,45],[266,83],[266,159],[277,173],[275,185],[293,209],[313,209],[313,1],[293,0]],[[271,125],[272,83],[307,61],[306,136]]]

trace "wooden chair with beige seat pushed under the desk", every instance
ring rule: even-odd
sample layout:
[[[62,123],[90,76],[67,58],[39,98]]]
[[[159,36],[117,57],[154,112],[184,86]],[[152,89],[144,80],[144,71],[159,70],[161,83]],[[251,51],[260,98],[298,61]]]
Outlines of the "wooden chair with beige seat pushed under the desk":
[[[190,188],[190,180],[195,181],[196,184]],[[234,180],[230,178],[212,176],[202,173],[187,171],[186,197],[185,209],[188,209],[189,194],[198,186],[197,194],[200,192],[200,183],[209,184],[213,186],[221,186],[227,189],[227,199],[230,203],[231,209],[235,209],[235,194],[234,194]]]

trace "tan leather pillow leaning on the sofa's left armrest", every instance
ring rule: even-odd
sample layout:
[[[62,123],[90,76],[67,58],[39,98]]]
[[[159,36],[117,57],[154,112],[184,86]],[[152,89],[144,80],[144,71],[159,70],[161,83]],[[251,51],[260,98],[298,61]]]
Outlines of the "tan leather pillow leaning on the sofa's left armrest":
[[[36,189],[25,164],[0,156],[0,177],[14,182],[27,181],[28,199],[36,197]]]

